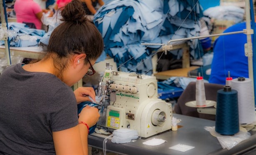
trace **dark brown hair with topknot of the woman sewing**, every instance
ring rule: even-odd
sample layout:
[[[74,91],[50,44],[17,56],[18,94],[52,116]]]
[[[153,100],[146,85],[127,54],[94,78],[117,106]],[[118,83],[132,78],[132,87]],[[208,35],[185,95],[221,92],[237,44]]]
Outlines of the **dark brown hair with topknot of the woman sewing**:
[[[95,25],[85,17],[80,0],[72,0],[63,9],[61,23],[49,40],[46,59],[56,53],[54,65],[59,73],[65,68],[63,58],[74,53],[85,53],[89,60],[96,60],[103,51],[103,38]],[[87,63],[87,62],[85,62]]]

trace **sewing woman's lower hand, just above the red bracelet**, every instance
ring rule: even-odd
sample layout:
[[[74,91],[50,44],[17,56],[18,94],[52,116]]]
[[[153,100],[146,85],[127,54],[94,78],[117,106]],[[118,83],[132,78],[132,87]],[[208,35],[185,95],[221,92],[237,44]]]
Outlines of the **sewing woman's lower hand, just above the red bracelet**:
[[[98,108],[87,105],[80,112],[78,121],[83,121],[89,125],[89,127],[92,127],[99,120],[99,117],[100,113],[98,112]]]

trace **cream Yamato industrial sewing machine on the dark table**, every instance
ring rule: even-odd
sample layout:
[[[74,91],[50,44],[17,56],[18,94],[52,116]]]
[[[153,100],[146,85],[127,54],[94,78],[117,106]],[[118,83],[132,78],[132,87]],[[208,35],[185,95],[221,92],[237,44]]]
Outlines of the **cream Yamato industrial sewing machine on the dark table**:
[[[101,116],[107,128],[134,129],[143,138],[171,129],[172,106],[158,99],[156,77],[113,71],[107,63],[99,94],[109,101]]]

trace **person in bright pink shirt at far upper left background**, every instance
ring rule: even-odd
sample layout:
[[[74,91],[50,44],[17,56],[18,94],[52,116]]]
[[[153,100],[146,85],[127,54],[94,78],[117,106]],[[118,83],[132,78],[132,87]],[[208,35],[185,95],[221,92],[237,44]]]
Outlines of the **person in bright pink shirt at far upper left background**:
[[[43,13],[48,12],[48,10],[42,10],[40,5],[33,0],[16,0],[14,10],[18,23],[26,23],[30,28],[36,29],[41,29]]]

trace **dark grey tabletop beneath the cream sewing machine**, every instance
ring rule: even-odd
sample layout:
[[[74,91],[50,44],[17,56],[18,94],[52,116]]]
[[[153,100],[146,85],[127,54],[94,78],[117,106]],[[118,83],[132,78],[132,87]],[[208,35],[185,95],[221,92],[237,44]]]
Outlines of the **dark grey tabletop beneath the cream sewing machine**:
[[[226,155],[241,153],[256,148],[256,134],[254,133],[251,134],[251,137],[248,140],[244,140],[231,150],[227,150],[222,149],[217,138],[213,137],[204,129],[204,127],[215,126],[215,121],[178,114],[174,114],[174,117],[181,119],[181,122],[178,124],[181,125],[181,128],[178,128],[178,131],[168,130],[149,138],[138,138],[137,140],[132,140],[132,142],[124,144],[112,143],[111,140],[108,139],[106,149],[110,152],[129,155]],[[105,137],[105,135],[93,133],[88,136],[88,145],[102,149]],[[153,138],[160,138],[167,142],[158,146],[148,146],[143,144],[143,142]],[[189,145],[195,148],[186,152],[170,149],[170,147],[178,144]]]

